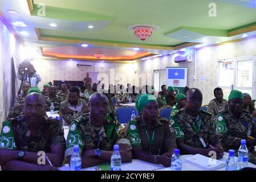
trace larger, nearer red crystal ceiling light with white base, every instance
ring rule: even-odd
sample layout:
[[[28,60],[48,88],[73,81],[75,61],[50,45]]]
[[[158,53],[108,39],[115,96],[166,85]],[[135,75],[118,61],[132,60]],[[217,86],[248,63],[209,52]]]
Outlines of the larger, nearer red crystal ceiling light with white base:
[[[149,24],[133,24],[129,26],[128,29],[133,31],[137,38],[144,41],[152,35],[153,30],[159,30],[159,26]]]

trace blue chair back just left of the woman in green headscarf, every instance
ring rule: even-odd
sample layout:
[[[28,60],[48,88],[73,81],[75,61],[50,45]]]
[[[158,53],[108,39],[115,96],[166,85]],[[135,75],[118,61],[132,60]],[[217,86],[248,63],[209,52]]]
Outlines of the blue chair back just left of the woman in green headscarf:
[[[121,124],[128,123],[129,121],[131,121],[132,111],[135,111],[136,115],[138,115],[135,107],[132,107],[132,106],[118,107],[116,109],[117,121],[119,121],[119,123]]]

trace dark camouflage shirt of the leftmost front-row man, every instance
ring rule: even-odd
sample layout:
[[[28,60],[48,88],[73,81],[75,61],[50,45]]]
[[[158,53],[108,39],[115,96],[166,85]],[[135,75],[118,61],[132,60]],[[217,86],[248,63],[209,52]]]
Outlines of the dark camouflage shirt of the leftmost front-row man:
[[[42,125],[39,126],[35,136],[31,136],[28,129],[25,115],[17,118],[12,118],[11,125],[13,127],[14,139],[17,150],[29,152],[51,152],[51,147],[54,145],[66,145],[64,138],[64,130],[59,121],[43,117]]]

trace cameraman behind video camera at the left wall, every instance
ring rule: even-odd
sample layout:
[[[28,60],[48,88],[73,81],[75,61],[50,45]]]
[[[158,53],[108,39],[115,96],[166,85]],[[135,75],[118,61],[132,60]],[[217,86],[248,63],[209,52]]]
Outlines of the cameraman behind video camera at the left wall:
[[[29,82],[30,80],[31,87],[38,86],[38,83],[42,81],[40,75],[35,71],[34,66],[30,62],[26,63],[26,61],[24,61],[22,64],[19,65],[18,78],[21,81],[22,75],[24,82]]]

